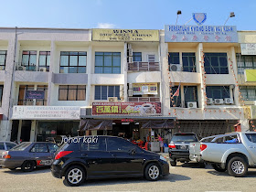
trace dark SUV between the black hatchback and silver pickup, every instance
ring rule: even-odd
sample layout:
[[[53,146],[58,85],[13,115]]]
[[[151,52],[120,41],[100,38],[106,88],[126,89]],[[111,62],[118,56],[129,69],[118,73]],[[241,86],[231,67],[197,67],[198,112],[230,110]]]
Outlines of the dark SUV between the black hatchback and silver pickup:
[[[175,133],[168,145],[170,164],[176,166],[177,161],[189,162],[189,144],[197,141],[196,133]]]

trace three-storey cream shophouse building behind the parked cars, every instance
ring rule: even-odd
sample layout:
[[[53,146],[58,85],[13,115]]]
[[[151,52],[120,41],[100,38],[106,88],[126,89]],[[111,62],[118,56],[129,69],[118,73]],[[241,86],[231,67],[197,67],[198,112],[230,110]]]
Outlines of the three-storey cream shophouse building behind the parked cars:
[[[1,28],[0,140],[160,133],[167,142],[249,129],[237,82],[243,32],[182,27]]]

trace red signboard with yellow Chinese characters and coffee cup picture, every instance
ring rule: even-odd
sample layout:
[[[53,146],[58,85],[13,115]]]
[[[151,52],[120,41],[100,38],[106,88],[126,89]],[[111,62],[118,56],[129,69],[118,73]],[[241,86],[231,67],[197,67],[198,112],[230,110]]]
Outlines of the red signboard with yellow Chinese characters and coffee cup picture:
[[[92,102],[92,115],[161,115],[161,102]]]

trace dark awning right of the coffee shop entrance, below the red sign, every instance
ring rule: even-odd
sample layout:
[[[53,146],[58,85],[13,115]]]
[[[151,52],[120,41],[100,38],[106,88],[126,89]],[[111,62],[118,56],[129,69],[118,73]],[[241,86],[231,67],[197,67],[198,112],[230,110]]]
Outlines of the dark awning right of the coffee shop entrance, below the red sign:
[[[142,129],[172,129],[172,128],[174,128],[173,120],[148,121],[142,125]]]

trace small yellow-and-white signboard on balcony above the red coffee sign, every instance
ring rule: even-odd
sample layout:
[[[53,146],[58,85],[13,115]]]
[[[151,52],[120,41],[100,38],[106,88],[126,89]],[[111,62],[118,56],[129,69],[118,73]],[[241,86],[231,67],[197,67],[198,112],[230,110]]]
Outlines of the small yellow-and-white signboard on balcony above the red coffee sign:
[[[157,94],[157,83],[133,83],[133,95]]]

